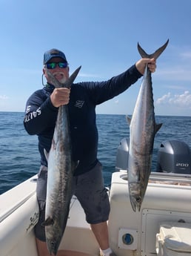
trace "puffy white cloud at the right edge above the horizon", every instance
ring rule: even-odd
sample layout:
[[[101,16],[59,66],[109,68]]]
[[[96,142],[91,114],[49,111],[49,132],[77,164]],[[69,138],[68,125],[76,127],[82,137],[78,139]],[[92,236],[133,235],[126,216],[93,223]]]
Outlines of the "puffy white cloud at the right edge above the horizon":
[[[161,98],[156,100],[157,105],[173,105],[178,108],[190,108],[191,109],[191,94],[189,91],[184,91],[182,94],[172,95],[167,93]]]

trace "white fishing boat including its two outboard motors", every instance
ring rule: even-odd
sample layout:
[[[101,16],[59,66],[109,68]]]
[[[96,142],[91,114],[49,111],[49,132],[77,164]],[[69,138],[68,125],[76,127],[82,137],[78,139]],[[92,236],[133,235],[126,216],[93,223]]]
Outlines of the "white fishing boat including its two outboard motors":
[[[178,148],[178,149],[177,149]],[[184,142],[167,141],[158,150],[141,211],[133,211],[127,189],[128,140],[121,140],[109,188],[110,247],[118,256],[191,255],[191,154]],[[185,157],[186,156],[186,157]],[[168,169],[173,168],[174,171]],[[1,256],[38,256],[37,176],[0,195]],[[70,203],[60,250],[70,256],[96,256],[99,247],[76,197]]]

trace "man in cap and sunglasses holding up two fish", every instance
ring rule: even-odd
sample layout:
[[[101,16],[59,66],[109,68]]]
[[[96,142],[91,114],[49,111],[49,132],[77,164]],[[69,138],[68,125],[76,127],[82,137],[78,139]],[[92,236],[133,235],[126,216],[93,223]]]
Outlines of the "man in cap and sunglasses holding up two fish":
[[[48,69],[59,82],[63,83],[68,79],[69,67],[63,52],[57,49],[48,50],[44,53],[43,64],[47,85],[33,93],[27,100],[24,118],[24,127],[28,134],[38,135],[38,149],[41,154],[41,168],[37,183],[40,218],[35,229],[38,255],[49,255],[44,227],[41,226],[44,222],[47,189],[47,160],[44,149],[47,152],[50,151],[58,107],[61,105],[68,105],[73,157],[78,161],[73,177],[73,193],[76,194],[85,211],[86,220],[96,236],[101,255],[114,255],[109,246],[107,231],[110,203],[107,190],[104,188],[101,163],[97,159],[96,105],[127,90],[142,76],[145,65],[148,64],[150,71],[154,72],[155,59],[140,59],[130,69],[107,81],[78,82],[70,89],[55,88],[47,75]],[[58,252],[58,256],[61,255],[62,253]]]

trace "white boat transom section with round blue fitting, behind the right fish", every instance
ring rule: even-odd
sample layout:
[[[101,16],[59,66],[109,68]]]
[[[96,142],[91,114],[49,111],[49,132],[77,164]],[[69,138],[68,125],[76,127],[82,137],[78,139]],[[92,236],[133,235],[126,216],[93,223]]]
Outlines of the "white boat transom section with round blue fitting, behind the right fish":
[[[113,173],[110,189],[110,245],[118,256],[187,256],[191,255],[191,175],[152,172],[141,211],[134,212],[130,204],[127,171]],[[165,225],[164,225],[165,223]],[[169,233],[164,234],[167,224]],[[179,226],[178,228],[176,228]],[[174,230],[180,230],[178,238]],[[171,234],[172,233],[172,234]],[[177,233],[177,232],[176,232]],[[163,234],[163,235],[161,235]],[[179,252],[164,248],[171,237],[179,241]],[[182,240],[179,239],[181,237]],[[177,239],[177,240],[176,240]],[[172,244],[171,243],[171,244]],[[187,248],[187,251],[183,248]],[[182,251],[181,251],[182,248]]]

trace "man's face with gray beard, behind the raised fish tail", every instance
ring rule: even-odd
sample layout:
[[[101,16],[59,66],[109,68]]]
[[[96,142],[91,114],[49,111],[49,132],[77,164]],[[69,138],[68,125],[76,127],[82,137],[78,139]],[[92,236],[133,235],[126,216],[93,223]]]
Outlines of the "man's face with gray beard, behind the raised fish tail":
[[[68,77],[69,77],[69,68],[66,67],[66,68],[60,68],[58,66],[58,62],[64,62],[63,59],[61,58],[52,58],[50,59],[49,62],[47,62],[47,64],[53,64],[53,63],[56,63],[56,67],[51,69],[49,68],[48,70],[53,74],[53,76],[55,76],[55,78],[61,82],[61,83],[64,83],[67,81]],[[53,65],[52,65],[53,66]],[[44,76],[46,77],[47,79],[47,82],[50,82],[49,81],[49,78],[47,76],[47,72],[46,72],[46,68],[47,68],[47,65],[45,65],[45,67],[43,68],[43,73],[44,73]]]

